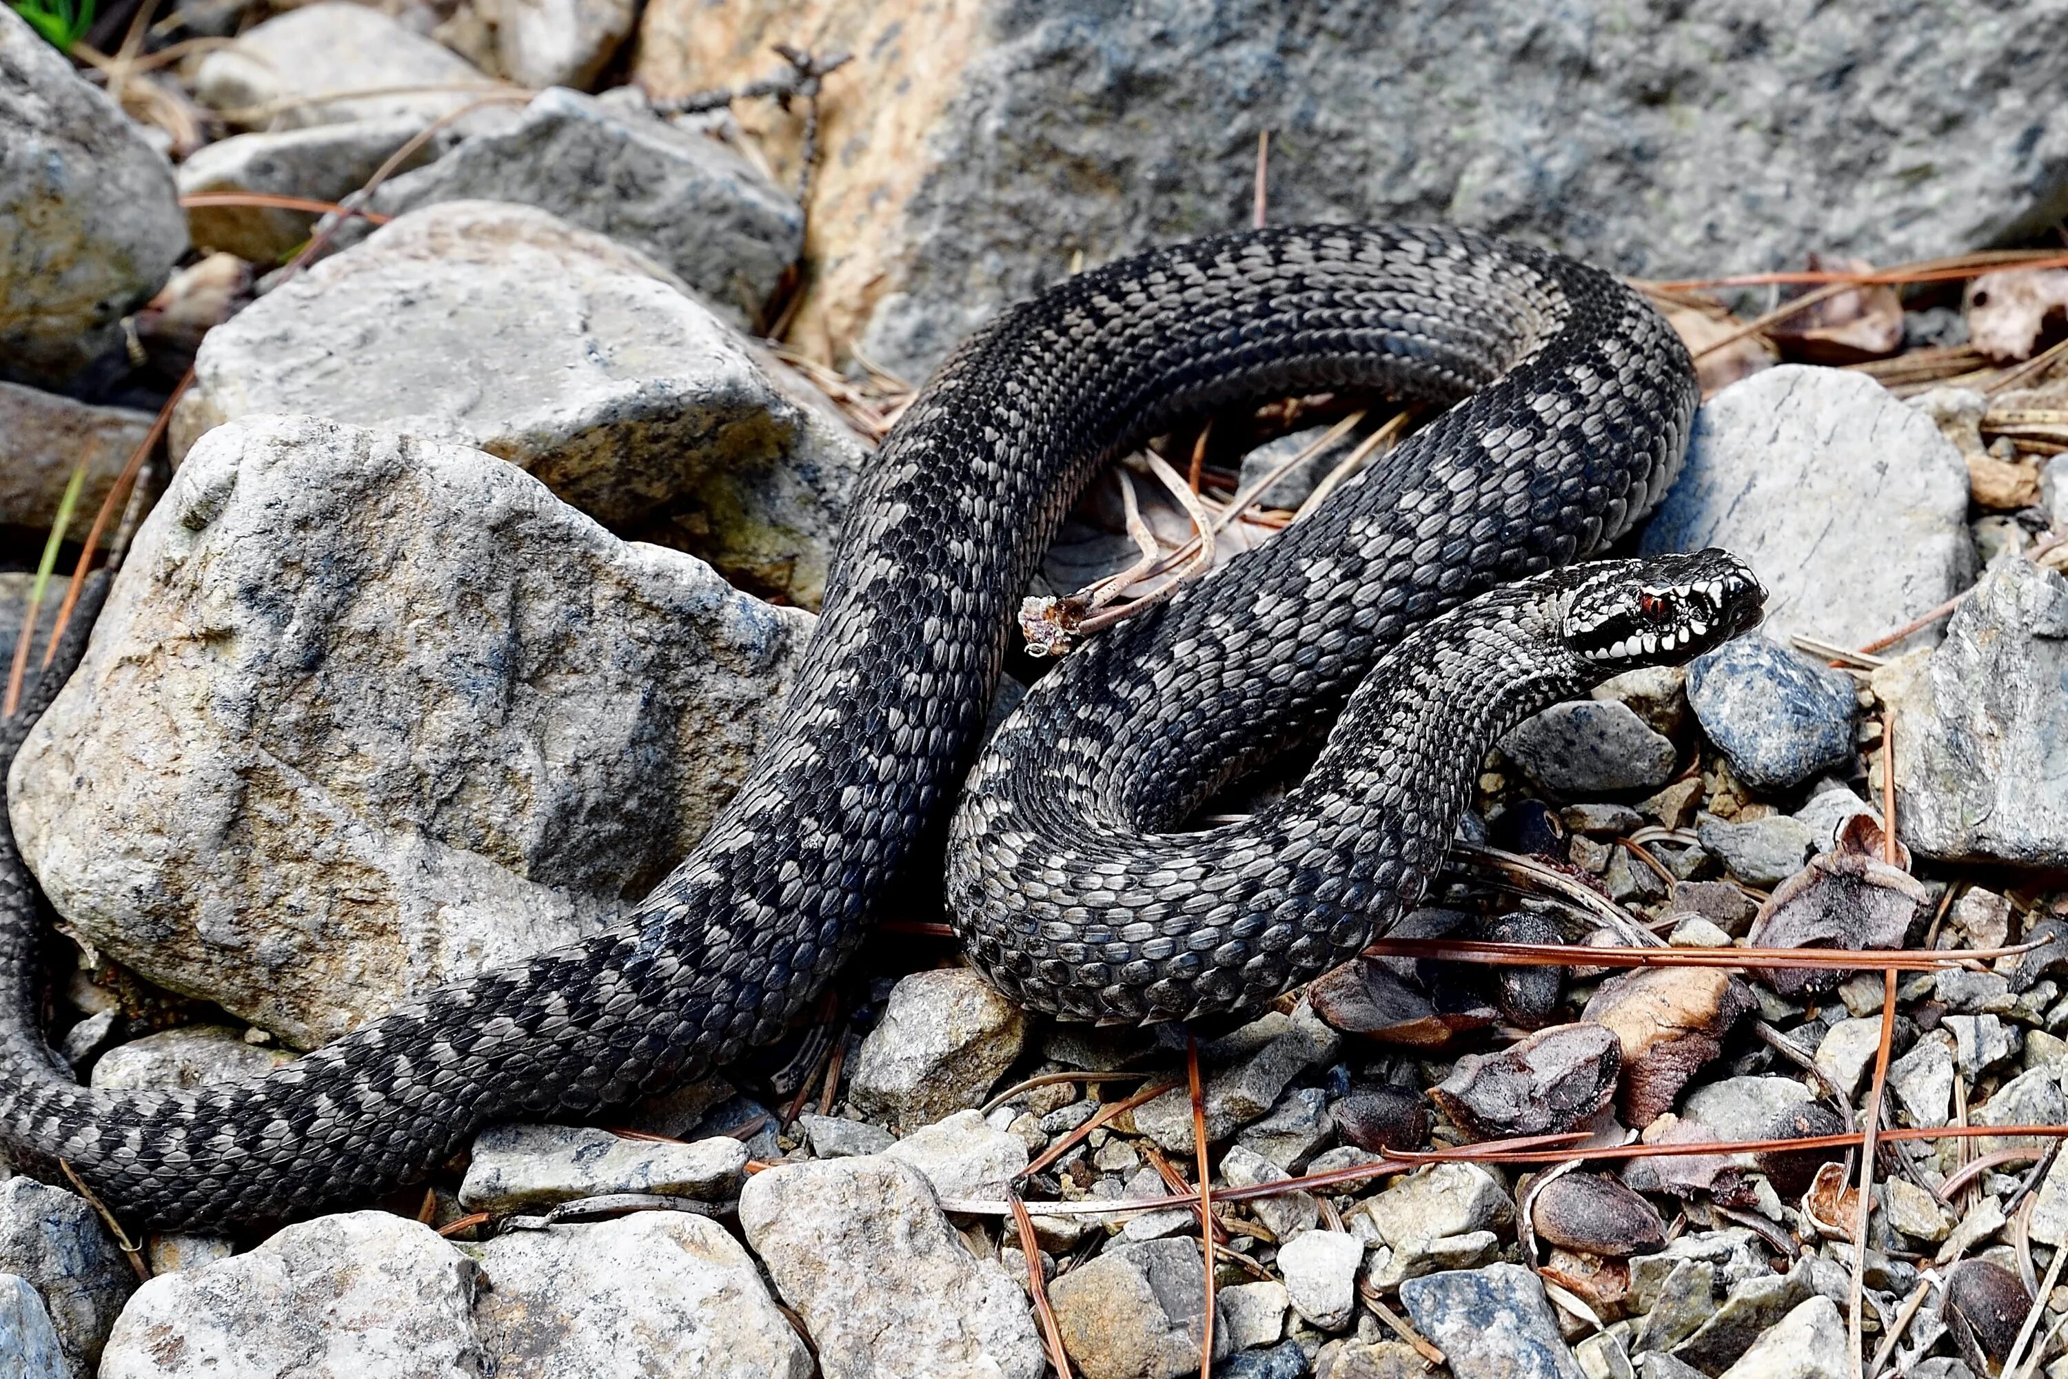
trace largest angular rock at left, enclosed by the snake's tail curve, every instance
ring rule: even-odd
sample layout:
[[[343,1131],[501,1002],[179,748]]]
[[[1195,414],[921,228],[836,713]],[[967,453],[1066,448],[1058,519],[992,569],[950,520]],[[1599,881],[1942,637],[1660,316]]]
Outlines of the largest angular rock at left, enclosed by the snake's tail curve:
[[[112,957],[306,1048],[622,918],[811,624],[480,451],[234,422],[14,761],[14,833]]]

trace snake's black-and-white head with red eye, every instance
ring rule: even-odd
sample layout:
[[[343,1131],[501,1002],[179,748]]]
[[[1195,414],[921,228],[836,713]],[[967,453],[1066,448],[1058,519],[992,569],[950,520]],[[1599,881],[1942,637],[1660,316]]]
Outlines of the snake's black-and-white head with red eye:
[[[1727,550],[1650,560],[1605,560],[1574,571],[1565,643],[1588,662],[1621,672],[1679,666],[1760,624],[1766,589]]]

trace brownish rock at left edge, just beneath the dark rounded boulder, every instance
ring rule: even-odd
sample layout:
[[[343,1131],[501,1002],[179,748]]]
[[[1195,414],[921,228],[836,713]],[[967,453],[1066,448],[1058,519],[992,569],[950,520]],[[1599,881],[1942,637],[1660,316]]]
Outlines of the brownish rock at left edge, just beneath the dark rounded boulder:
[[[4,45],[0,45],[0,60],[4,60]],[[0,120],[4,118],[4,108],[0,108]],[[0,178],[4,176],[0,172]],[[4,194],[0,190],[0,196]],[[0,331],[4,329],[0,325]],[[143,442],[149,430],[151,413],[147,411],[89,407],[58,393],[0,382],[0,523],[37,529],[56,525],[58,502],[81,463],[87,465],[87,482],[79,490],[72,523],[77,527],[81,521],[91,521],[87,515],[108,498],[108,490],[114,488],[116,476],[128,463],[130,451]],[[27,577],[14,579],[25,581]],[[12,624],[19,626],[21,616],[14,616]],[[12,643],[12,637],[8,641]]]

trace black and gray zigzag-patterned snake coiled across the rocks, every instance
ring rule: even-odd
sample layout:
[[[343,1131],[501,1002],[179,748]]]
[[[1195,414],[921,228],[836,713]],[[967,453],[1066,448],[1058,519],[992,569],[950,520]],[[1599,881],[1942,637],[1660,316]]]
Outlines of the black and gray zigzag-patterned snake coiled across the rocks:
[[[1187,420],[1315,393],[1433,420],[1061,657],[978,763],[1013,614],[1075,494]],[[939,868],[943,833],[970,959],[1030,1009],[1154,1023],[1270,1001],[1423,893],[1508,724],[1747,624],[1756,581],[1721,552],[1574,564],[1673,482],[1696,401],[1634,289],[1464,229],[1270,227],[1079,271],[964,339],[875,451],[761,750],[618,926],[263,1077],[97,1090],[41,1034],[48,914],[0,827],[0,1139],[139,1228],[362,1203],[486,1125],[594,1118],[778,1040],[891,881]],[[1317,740],[1280,804],[1187,827]]]

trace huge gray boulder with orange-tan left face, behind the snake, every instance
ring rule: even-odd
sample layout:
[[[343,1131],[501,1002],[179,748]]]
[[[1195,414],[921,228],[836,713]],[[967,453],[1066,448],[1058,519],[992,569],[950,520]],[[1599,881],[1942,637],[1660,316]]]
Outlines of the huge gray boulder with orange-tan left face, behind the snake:
[[[1270,219],[1456,221],[1621,273],[1878,263],[2058,217],[2068,14],[1900,0],[653,0],[656,95],[852,52],[825,83],[796,339],[924,374],[1071,258]],[[798,112],[740,108],[794,151]],[[794,153],[792,153],[794,157]]]

